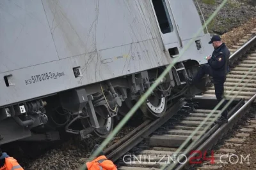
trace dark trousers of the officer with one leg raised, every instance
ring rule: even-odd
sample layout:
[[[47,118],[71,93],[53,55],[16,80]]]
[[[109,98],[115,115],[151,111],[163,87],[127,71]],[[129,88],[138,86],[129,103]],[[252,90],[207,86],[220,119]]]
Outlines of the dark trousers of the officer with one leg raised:
[[[209,74],[209,76],[212,76],[213,81],[214,81],[214,89],[215,89],[215,96],[217,98],[218,103],[223,99],[223,94],[224,94],[224,83],[226,81],[226,76],[218,76],[218,75],[213,75],[213,70],[212,67],[205,64],[200,67],[198,73],[196,74],[195,78],[193,78],[193,82],[198,82],[200,79],[203,78],[205,74]],[[227,104],[227,100],[225,100],[221,106],[220,109],[223,108]],[[221,115],[225,118],[227,118],[228,112],[227,109],[221,113]]]

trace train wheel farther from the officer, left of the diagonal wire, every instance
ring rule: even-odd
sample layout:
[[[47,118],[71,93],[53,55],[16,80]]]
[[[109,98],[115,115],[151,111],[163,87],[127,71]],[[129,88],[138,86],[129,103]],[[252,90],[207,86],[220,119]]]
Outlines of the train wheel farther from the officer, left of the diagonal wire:
[[[108,135],[110,134],[110,132],[113,130],[114,119],[113,119],[113,117],[104,118],[104,117],[100,116],[101,114],[106,114],[107,111],[100,114],[99,111],[103,111],[103,110],[98,110],[97,108],[99,108],[99,107],[95,108],[95,113],[97,115],[97,119],[98,119],[100,128],[96,129],[94,132],[100,138],[107,138]]]

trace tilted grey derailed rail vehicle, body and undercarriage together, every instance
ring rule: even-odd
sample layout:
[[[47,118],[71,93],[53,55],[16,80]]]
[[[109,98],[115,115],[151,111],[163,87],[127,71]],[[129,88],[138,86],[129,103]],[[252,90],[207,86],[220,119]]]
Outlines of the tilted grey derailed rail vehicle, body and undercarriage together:
[[[114,117],[129,111],[202,28],[192,0],[3,0],[0,6],[0,144],[50,139],[61,129],[106,138]],[[210,38],[200,32],[141,106],[145,115],[161,117],[167,97],[185,94],[184,73],[205,64]]]

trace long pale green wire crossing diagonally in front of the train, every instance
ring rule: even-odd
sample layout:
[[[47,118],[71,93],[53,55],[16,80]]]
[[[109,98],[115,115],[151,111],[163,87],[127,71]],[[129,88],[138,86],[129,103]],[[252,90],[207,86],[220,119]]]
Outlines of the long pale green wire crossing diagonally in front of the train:
[[[152,94],[153,90],[156,89],[156,87],[159,85],[159,83],[161,83],[161,80],[163,80],[164,76],[166,76],[166,74],[168,74],[168,72],[172,69],[174,64],[177,62],[177,60],[179,60],[180,57],[184,54],[184,52],[186,52],[186,50],[188,50],[189,46],[191,46],[191,44],[195,41],[196,37],[200,34],[200,32],[202,32],[202,30],[204,30],[205,26],[208,25],[209,22],[211,22],[212,18],[214,18],[216,16],[218,11],[220,11],[221,8],[223,8],[225,3],[227,3],[227,0],[223,0],[223,2],[220,4],[220,6],[218,6],[218,8],[214,11],[214,13],[212,13],[212,15],[209,17],[206,24],[204,26],[202,26],[202,28],[200,28],[200,30],[198,32],[196,32],[196,34],[189,41],[189,43],[185,46],[185,48],[182,49],[179,56],[176,57],[175,59],[173,59],[172,64],[170,64],[168,67],[166,67],[166,69],[164,69],[163,73],[157,78],[157,80],[152,84],[152,86],[145,92],[145,94],[143,94],[143,96],[141,96],[139,101],[131,108],[131,110],[127,113],[127,115],[125,115],[125,117],[122,118],[120,123],[118,125],[116,125],[115,129],[113,129],[113,131],[109,134],[108,138],[106,138],[102,142],[102,144],[99,146],[99,148],[97,148],[97,150],[95,150],[95,152],[93,152],[93,154],[89,158],[89,160],[93,160],[93,158],[95,158],[96,155],[98,155],[100,153],[100,150],[103,150],[104,147],[106,145],[108,145],[109,141],[111,141],[111,139],[113,139],[114,136],[122,129],[122,127],[132,117],[132,115],[136,112],[136,110],[138,110],[138,108],[140,108],[141,104],[146,101],[147,97],[150,96],[150,94]],[[79,167],[79,169],[87,169],[86,164]]]

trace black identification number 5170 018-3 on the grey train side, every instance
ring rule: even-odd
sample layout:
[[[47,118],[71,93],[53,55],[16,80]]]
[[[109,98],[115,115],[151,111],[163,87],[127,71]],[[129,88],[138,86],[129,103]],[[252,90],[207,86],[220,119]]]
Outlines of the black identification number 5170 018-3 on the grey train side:
[[[31,76],[28,80],[25,80],[26,85],[33,84],[33,83],[38,83],[40,81],[46,81],[46,80],[51,80],[51,79],[57,79],[60,78],[61,76],[65,76],[64,71],[61,73],[42,73],[42,74],[37,74],[34,76]]]

